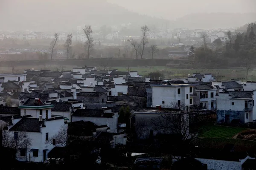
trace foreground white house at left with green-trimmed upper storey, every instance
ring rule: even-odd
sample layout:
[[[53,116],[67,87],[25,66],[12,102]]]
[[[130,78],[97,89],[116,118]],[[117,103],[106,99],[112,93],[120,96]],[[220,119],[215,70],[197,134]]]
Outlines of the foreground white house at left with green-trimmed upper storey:
[[[47,154],[56,146],[56,139],[51,144],[46,142],[61,130],[64,125],[64,117],[52,117],[53,105],[44,105],[40,100],[34,105],[22,105],[20,116],[12,119],[12,125],[8,127],[13,138],[29,138],[31,145],[19,148],[16,157],[20,161],[31,160],[43,162]],[[22,133],[23,132],[23,133]],[[23,136],[20,136],[20,134]]]

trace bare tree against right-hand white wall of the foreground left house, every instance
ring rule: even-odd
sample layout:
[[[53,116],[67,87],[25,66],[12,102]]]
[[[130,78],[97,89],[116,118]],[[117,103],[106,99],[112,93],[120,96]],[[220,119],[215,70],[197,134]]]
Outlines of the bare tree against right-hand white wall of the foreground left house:
[[[48,146],[51,144],[55,144],[55,146],[67,147],[67,138],[67,125],[62,125],[58,133],[49,138],[49,140],[46,141],[45,144],[47,144]]]

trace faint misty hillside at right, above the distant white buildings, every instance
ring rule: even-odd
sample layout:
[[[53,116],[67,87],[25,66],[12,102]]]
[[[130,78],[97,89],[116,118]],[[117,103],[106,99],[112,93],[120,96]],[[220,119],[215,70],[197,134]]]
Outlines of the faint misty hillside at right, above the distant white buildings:
[[[177,27],[185,28],[230,28],[243,26],[256,20],[256,13],[197,13],[175,21]]]

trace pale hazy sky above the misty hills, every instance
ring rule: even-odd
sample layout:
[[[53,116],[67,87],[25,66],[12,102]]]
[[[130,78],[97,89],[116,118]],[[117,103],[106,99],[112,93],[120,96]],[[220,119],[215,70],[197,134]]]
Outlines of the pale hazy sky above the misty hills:
[[[169,20],[201,12],[256,12],[256,0],[108,0],[131,11]]]

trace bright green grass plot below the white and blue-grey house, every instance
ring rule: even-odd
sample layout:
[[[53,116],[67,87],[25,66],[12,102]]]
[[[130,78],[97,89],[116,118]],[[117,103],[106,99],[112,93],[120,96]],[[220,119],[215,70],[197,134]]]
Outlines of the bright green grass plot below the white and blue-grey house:
[[[242,127],[226,127],[218,125],[207,125],[203,127],[200,137],[204,138],[232,138],[237,133],[246,130]]]

